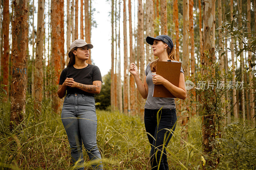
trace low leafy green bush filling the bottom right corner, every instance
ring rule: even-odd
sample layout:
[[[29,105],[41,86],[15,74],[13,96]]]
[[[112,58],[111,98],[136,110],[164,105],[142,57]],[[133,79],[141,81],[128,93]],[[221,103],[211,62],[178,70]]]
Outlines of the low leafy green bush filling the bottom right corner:
[[[223,137],[212,143],[220,159],[218,169],[255,169],[256,129],[243,128],[241,123],[224,127]]]

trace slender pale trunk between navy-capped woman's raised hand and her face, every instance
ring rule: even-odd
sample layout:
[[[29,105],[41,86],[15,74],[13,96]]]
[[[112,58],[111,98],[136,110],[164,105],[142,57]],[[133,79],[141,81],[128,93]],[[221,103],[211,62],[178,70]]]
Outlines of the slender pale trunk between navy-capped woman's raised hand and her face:
[[[145,67],[145,55],[144,55],[144,19],[143,19],[143,9],[142,9],[142,1],[138,0],[138,50],[140,58],[140,79],[144,82],[144,67]],[[144,113],[144,104],[145,100],[140,96],[140,115]]]

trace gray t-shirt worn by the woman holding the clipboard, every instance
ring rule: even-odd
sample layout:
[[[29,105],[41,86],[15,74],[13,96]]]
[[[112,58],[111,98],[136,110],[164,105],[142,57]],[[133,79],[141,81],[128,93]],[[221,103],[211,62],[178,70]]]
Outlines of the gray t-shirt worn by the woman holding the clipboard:
[[[175,60],[172,60],[172,62],[179,63],[178,61],[175,61]],[[155,85],[153,84],[153,81],[152,81],[153,73],[150,70],[149,64],[147,65],[145,70],[146,82],[148,84],[148,97],[147,97],[144,108],[146,109],[160,109],[161,107],[163,107],[164,109],[176,108],[174,98],[153,97],[153,91],[154,91]],[[180,72],[184,74],[182,67],[180,68]]]

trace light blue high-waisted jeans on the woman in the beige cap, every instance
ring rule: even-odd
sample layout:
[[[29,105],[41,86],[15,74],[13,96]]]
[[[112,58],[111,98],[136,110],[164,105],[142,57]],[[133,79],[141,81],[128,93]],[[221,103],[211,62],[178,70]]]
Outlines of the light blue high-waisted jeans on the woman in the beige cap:
[[[95,99],[83,94],[68,94],[63,103],[61,121],[68,135],[73,166],[84,169],[82,142],[90,160],[99,160],[94,163],[93,169],[103,169],[100,152],[96,143],[97,116]]]

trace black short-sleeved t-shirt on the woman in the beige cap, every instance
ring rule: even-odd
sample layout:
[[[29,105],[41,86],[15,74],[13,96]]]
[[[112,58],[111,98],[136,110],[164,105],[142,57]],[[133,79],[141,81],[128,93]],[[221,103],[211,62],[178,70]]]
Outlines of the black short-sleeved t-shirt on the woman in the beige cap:
[[[66,78],[74,78],[75,82],[84,85],[92,85],[92,82],[97,80],[102,82],[99,67],[91,64],[88,64],[88,66],[83,69],[76,69],[73,65],[63,69],[60,74],[59,85],[62,85]],[[83,90],[78,89],[76,87],[67,86],[67,94],[74,93],[84,94],[87,96],[94,96],[93,93],[84,92]]]

